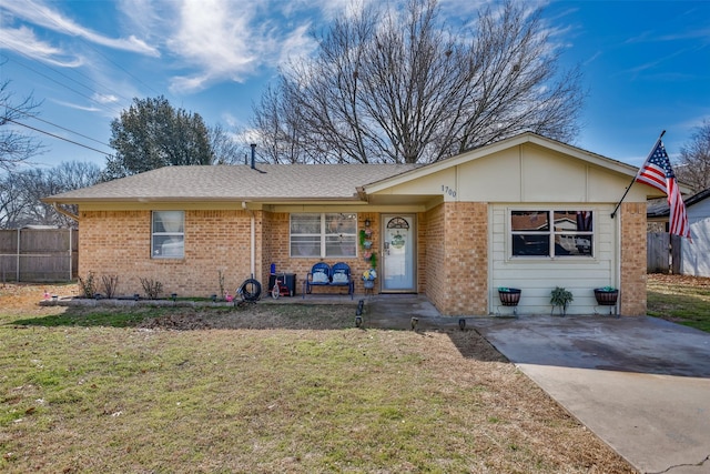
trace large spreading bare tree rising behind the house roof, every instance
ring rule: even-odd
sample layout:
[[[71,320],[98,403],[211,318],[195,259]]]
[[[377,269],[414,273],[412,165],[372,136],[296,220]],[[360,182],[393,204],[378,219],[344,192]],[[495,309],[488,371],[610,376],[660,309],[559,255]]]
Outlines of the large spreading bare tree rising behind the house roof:
[[[523,131],[570,141],[584,100],[540,11],[495,3],[454,29],[437,0],[342,17],[254,110],[275,162],[433,162]]]

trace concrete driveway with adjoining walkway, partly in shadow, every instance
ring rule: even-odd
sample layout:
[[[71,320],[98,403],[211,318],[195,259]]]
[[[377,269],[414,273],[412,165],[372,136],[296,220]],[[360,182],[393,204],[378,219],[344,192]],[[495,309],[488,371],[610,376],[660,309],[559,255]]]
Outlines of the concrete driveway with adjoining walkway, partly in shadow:
[[[458,327],[422,296],[374,297],[365,324]],[[466,317],[642,473],[710,473],[710,334],[655,317]]]

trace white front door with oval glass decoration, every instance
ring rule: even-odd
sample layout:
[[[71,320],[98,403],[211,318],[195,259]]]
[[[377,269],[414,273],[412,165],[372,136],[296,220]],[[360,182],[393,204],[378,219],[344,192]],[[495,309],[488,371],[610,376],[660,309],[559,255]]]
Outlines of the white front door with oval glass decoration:
[[[382,291],[416,293],[415,216],[383,214]]]

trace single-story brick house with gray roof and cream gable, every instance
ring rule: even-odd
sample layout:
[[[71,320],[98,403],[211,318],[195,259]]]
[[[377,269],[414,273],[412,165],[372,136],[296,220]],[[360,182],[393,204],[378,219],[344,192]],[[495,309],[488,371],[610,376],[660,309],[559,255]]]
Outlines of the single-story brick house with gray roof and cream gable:
[[[168,167],[45,198],[78,204],[79,274],[141,278],[166,294],[235,289],[270,266],[296,274],[377,259],[377,293],[418,293],[446,315],[510,314],[498,288],[521,290],[520,314],[598,310],[594,289],[619,289],[622,315],[646,313],[646,202],[637,168],[535,133],[427,164]],[[265,286],[265,285],[264,285]],[[342,288],[318,289],[342,292]],[[356,279],[355,293],[364,294]]]

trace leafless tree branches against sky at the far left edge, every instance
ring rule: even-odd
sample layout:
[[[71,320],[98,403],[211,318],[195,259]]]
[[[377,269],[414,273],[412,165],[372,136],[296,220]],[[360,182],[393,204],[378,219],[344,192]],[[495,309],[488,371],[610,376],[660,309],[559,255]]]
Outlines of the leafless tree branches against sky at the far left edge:
[[[41,102],[36,102],[32,95],[13,102],[9,85],[9,80],[0,82],[0,170],[6,171],[40,154],[43,148],[34,137],[18,131],[23,120],[39,114]]]

